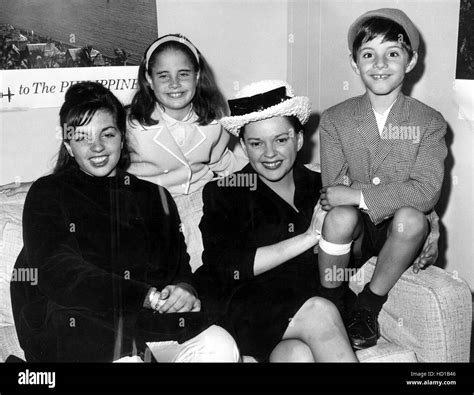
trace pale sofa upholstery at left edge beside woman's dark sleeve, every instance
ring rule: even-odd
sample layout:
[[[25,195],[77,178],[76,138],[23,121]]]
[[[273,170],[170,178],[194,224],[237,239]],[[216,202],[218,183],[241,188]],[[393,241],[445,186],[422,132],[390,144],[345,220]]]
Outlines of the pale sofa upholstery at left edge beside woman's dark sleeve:
[[[23,247],[22,213],[26,194],[0,194],[0,327],[14,325],[10,280],[16,258]]]

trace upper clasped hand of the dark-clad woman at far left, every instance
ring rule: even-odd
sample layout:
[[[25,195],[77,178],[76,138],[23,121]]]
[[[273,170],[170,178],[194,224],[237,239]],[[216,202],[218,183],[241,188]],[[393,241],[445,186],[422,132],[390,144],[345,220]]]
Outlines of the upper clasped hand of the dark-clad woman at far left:
[[[188,288],[188,284],[167,285],[160,293],[160,300],[166,302],[157,311],[159,313],[201,311],[201,301]]]

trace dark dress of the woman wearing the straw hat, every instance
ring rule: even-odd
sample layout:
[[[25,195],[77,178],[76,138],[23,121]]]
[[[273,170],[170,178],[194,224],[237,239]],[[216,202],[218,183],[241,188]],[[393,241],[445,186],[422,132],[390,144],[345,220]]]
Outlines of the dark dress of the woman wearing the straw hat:
[[[319,198],[321,178],[295,165],[294,203],[288,203],[258,179],[250,165],[234,175],[241,186],[228,181],[208,183],[203,191],[201,220],[204,253],[197,273],[208,281],[211,299],[221,300],[226,311],[221,325],[236,339],[243,355],[266,361],[280,342],[291,318],[317,294],[319,275],[313,249],[262,273],[253,274],[257,248],[304,233]],[[242,180],[257,181],[254,187]],[[249,184],[247,184],[249,185]],[[251,189],[255,189],[252,191]]]

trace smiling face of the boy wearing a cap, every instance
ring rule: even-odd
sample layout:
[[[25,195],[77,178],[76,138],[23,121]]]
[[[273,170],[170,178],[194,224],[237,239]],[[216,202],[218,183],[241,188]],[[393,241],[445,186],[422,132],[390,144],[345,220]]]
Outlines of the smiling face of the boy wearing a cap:
[[[371,99],[384,96],[394,101],[402,89],[405,74],[415,67],[417,54],[411,60],[396,41],[382,42],[377,36],[360,47],[351,66],[360,75]]]

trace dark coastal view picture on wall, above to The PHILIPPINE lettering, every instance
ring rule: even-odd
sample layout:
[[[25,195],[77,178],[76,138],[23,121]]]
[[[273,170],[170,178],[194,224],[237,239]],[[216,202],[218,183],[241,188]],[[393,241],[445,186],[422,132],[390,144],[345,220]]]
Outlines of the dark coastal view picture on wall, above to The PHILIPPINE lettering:
[[[156,2],[4,0],[0,34],[3,70],[138,65]]]

